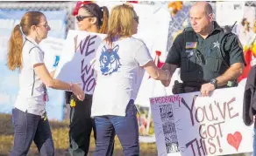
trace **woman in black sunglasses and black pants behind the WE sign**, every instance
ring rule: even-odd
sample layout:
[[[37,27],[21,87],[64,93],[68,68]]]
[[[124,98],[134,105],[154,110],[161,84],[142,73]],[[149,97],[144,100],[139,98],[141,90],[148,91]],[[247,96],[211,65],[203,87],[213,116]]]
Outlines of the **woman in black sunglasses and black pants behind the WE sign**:
[[[96,3],[78,3],[76,20],[80,31],[106,33],[109,11]],[[75,105],[74,105],[75,103]],[[84,156],[89,153],[90,134],[93,129],[96,139],[94,119],[90,118],[92,95],[85,94],[83,101],[71,96],[70,101],[69,149],[71,156]]]

